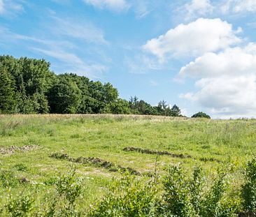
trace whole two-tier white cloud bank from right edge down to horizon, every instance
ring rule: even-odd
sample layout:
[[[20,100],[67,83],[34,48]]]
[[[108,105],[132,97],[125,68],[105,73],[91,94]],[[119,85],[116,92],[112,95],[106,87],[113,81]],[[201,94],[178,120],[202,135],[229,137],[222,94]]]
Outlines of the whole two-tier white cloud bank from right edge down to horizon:
[[[180,70],[199,91],[181,94],[221,117],[252,117],[256,109],[256,44],[207,53]]]

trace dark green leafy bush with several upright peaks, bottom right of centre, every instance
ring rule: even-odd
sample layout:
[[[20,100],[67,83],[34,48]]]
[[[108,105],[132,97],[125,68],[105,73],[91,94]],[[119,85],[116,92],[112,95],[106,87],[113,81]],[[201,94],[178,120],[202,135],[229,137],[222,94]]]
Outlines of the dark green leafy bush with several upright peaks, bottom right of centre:
[[[170,166],[164,178],[164,195],[158,204],[157,216],[236,216],[236,204],[227,206],[229,198],[224,197],[225,175],[218,172],[213,185],[206,191],[201,167],[194,167],[192,177],[187,178],[180,165]]]

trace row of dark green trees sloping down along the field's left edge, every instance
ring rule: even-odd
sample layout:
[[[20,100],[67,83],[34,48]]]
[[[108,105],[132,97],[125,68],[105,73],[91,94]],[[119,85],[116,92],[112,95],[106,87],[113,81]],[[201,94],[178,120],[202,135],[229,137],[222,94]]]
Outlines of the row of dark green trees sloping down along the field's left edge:
[[[118,97],[112,84],[76,74],[55,75],[43,59],[0,56],[0,114],[150,114],[181,116],[164,100],[152,106],[136,96]]]

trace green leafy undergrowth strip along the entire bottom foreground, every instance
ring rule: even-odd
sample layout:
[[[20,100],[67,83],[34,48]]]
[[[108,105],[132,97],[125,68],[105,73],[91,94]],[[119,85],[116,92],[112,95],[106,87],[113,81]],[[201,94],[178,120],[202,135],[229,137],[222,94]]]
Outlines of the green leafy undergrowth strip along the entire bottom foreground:
[[[3,216],[171,216],[232,217],[253,216],[256,211],[256,160],[246,166],[240,193],[230,193],[229,174],[218,170],[208,180],[201,167],[192,174],[180,165],[170,165],[164,177],[155,172],[151,178],[138,177],[129,171],[113,178],[108,192],[86,207],[81,203],[86,181],[76,175],[74,167],[52,179],[52,190],[36,204],[36,188],[23,188],[11,172],[1,171],[0,214]]]

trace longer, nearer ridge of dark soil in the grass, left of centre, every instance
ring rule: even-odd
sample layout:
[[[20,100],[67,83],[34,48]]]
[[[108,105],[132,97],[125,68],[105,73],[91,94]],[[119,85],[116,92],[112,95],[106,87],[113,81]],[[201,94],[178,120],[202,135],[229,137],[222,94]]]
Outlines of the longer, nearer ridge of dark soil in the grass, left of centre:
[[[102,160],[101,158],[94,158],[94,157],[71,158],[67,154],[58,154],[58,153],[51,154],[50,158],[68,160],[68,161],[75,162],[75,163],[83,163],[83,164],[94,165],[96,167],[105,168],[110,172],[117,172],[118,170],[121,170],[122,172],[129,171],[131,174],[141,175],[140,172],[134,170],[131,167],[122,167],[121,165],[117,165],[117,164],[112,163],[112,162],[107,161],[107,160]]]

